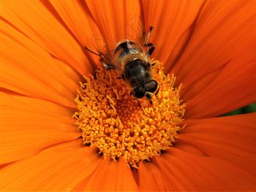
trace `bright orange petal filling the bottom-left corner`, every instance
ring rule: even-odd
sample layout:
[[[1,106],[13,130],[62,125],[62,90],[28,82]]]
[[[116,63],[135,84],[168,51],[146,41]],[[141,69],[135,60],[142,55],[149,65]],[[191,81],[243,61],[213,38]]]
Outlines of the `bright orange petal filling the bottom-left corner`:
[[[89,177],[101,158],[82,140],[62,143],[1,170],[4,191],[69,191]]]

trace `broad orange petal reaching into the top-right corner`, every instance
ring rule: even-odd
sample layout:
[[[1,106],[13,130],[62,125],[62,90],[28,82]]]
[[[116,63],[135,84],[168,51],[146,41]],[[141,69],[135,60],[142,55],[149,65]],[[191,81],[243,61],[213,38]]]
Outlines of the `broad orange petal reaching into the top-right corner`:
[[[232,60],[255,37],[255,1],[206,1],[192,37],[172,69],[192,84]]]

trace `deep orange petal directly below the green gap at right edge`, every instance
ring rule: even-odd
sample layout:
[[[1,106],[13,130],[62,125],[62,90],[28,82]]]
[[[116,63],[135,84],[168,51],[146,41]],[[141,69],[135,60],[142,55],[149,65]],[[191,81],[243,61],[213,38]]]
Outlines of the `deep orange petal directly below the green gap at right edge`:
[[[179,143],[197,147],[256,177],[256,113],[200,120],[185,120]],[[177,145],[178,147],[178,145]]]

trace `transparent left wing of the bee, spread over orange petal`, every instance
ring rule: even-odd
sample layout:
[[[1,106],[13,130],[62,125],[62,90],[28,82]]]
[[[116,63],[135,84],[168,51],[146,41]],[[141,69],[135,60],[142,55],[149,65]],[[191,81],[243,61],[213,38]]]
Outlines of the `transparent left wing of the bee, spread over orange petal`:
[[[113,59],[114,50],[117,42],[114,42],[108,37],[103,37],[99,34],[94,34],[91,37],[91,41],[97,53],[102,55],[103,66],[108,69],[114,69],[118,77],[121,76],[123,74],[122,69],[120,66],[118,66],[118,64],[116,64],[116,61]]]

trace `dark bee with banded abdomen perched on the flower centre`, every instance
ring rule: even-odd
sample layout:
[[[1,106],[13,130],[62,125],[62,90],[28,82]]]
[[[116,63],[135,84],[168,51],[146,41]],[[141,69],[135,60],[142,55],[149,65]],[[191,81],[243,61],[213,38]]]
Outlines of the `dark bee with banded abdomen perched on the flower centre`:
[[[112,52],[108,49],[96,53],[88,47],[84,47],[89,52],[99,56],[99,61],[110,70],[118,72],[118,78],[126,80],[131,87],[131,95],[137,99],[144,96],[152,104],[153,94],[157,96],[159,86],[151,74],[150,55],[155,49],[155,45],[148,42],[153,27],[150,26],[147,36],[145,32],[136,40],[124,39],[116,43]]]

